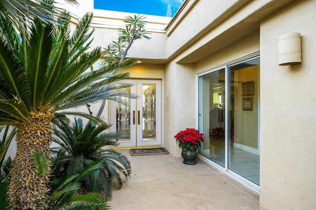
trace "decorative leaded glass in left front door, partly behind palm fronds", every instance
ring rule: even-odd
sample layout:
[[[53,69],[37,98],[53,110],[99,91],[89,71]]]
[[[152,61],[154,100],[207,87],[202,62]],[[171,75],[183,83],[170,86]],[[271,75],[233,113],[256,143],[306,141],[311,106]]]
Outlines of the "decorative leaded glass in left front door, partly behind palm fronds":
[[[130,93],[130,88],[124,88],[121,90],[125,93]],[[119,97],[120,100],[125,102],[124,104],[116,103],[116,131],[122,135],[122,139],[118,141],[130,140],[130,98]]]

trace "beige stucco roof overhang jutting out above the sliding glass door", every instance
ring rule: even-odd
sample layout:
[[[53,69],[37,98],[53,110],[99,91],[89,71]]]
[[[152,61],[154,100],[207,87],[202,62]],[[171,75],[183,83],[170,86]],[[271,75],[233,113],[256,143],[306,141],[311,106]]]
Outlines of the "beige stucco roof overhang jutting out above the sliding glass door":
[[[260,21],[293,0],[189,0],[167,27],[168,59],[197,63],[259,30]]]

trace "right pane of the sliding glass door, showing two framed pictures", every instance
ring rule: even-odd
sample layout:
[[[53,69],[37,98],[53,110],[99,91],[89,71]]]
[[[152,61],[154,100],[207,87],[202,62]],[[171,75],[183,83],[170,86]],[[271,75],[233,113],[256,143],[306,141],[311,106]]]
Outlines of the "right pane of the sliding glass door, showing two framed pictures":
[[[228,169],[259,185],[259,58],[229,67]]]

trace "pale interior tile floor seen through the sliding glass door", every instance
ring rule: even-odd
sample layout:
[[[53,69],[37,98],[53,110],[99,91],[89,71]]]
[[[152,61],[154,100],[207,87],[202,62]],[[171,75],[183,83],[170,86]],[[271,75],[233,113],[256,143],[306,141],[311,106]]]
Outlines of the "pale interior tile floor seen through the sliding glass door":
[[[210,141],[210,154],[203,156],[225,168],[225,139],[211,138]],[[259,185],[260,156],[243,149],[236,148],[233,143],[234,141],[231,140],[228,169]]]

